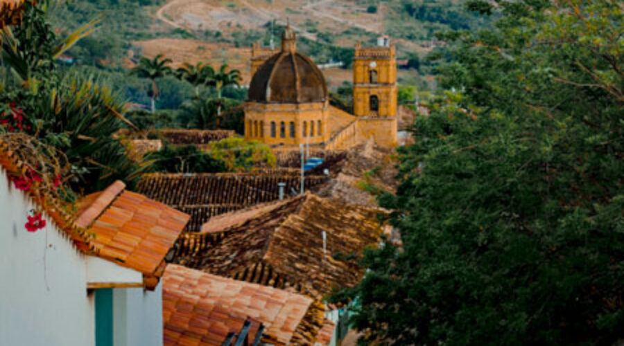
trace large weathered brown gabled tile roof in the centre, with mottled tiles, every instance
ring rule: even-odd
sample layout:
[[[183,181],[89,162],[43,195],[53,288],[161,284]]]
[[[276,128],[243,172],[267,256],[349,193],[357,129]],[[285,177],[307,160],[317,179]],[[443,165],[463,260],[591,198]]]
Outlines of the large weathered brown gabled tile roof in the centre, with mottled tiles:
[[[230,215],[237,219],[234,226],[225,217],[210,222],[209,233],[203,237],[221,234],[223,240],[208,246],[201,236],[185,239],[176,262],[320,297],[331,293],[334,286],[352,286],[361,279],[363,268],[351,257],[379,242],[383,228],[380,213],[375,208],[306,194],[261,213],[245,210],[239,216]]]

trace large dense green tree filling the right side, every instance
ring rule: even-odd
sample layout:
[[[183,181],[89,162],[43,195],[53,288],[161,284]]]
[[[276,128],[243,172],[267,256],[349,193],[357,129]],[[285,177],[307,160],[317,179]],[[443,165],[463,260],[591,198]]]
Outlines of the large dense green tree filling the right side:
[[[624,17],[617,1],[472,1],[447,91],[381,205],[402,246],[365,254],[352,322],[385,345],[624,338]]]

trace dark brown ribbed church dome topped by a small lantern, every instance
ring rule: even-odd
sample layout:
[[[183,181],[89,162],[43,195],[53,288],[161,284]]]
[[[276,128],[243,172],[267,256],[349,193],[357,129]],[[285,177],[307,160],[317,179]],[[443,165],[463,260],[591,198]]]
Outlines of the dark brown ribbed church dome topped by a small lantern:
[[[327,100],[327,84],[318,66],[297,53],[295,32],[286,26],[281,52],[270,57],[254,74],[249,87],[251,102],[309,103]]]

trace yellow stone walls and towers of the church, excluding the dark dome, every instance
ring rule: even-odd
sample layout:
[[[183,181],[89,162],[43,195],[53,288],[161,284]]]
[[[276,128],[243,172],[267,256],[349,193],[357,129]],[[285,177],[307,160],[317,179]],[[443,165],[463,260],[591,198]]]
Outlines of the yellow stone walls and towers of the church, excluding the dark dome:
[[[289,59],[288,57],[275,62],[275,57],[284,55],[284,52],[291,54],[290,59],[295,64],[295,70],[297,69],[295,54],[300,54],[295,53],[296,38],[292,30],[287,28],[282,39],[281,53],[261,48],[258,44],[252,46],[251,67],[254,78],[256,72],[262,75],[263,64],[267,60],[267,66],[279,64],[280,61],[284,64],[283,60]],[[305,59],[309,60],[307,57]],[[314,69],[318,68],[314,65]],[[269,84],[280,70],[284,70],[284,67],[274,68],[274,71],[268,73]],[[290,86],[297,89],[297,95],[300,95],[300,90],[304,90],[300,78],[300,73],[295,73],[297,82],[294,87]],[[327,98],[327,86],[324,85],[324,78],[322,79]],[[304,77],[303,80],[307,78]],[[329,100],[298,102],[300,96],[297,96],[297,102],[276,102],[272,95],[278,95],[280,91],[276,90],[275,85],[270,88],[266,84],[252,82],[250,99],[253,94],[256,100],[261,100],[249,100],[245,104],[245,139],[258,140],[275,149],[294,149],[300,144],[324,149],[348,149],[371,138],[381,147],[395,147],[398,113],[397,62],[395,46],[390,44],[388,37],[380,37],[376,47],[363,48],[361,44],[356,45],[353,81],[356,118],[347,126],[340,125],[332,117]],[[254,85],[261,85],[266,90],[260,89],[260,93],[258,90],[252,91]],[[264,93],[266,100],[263,98]]]

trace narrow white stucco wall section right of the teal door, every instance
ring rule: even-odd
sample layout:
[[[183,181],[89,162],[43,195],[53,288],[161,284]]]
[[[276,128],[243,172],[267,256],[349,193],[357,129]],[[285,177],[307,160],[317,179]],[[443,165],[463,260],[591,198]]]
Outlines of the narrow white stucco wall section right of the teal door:
[[[162,346],[162,284],[154,291],[114,289],[114,345]]]

